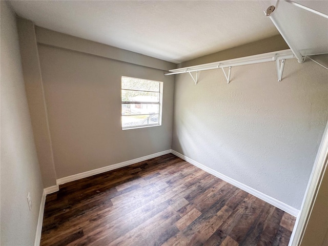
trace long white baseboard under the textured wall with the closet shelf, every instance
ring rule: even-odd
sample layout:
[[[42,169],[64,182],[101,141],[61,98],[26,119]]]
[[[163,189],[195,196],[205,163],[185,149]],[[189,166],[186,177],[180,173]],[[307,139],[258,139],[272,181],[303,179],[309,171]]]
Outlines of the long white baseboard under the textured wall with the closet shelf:
[[[221,173],[219,173],[219,172],[217,172],[217,171],[215,171],[211,168],[208,168],[208,167],[202,165],[201,163],[199,163],[199,162],[197,162],[197,161],[195,161],[195,160],[193,160],[193,159],[191,159],[191,158],[189,158],[185,155],[180,154],[179,152],[177,152],[175,150],[172,150],[171,153],[178,156],[178,157],[180,157],[183,160],[188,161],[192,165],[194,165],[194,166],[196,166],[196,167],[198,167],[198,168],[200,168],[200,169],[202,169],[202,170],[204,170],[204,171],[206,171],[206,172],[208,172],[208,173],[210,173],[210,174],[212,174],[212,175],[214,175],[214,176],[216,176],[216,177],[218,177],[218,178],[220,178],[220,179],[222,179],[222,180],[224,180],[228,183],[231,183],[231,185],[233,185],[235,187],[238,187],[239,189],[241,189],[245,192],[248,192],[248,193],[252,194],[253,196],[258,197],[263,201],[266,201],[266,202],[270,203],[271,205],[275,206],[278,209],[283,210],[284,212],[287,212],[287,213],[289,213],[289,214],[291,214],[295,217],[297,217],[298,214],[299,214],[299,210],[289,206],[288,204],[285,204],[285,203],[283,203],[283,202],[281,202],[281,201],[279,201],[279,200],[277,200],[277,199],[275,199],[271,196],[265,195],[262,192],[259,192],[259,191],[255,190],[255,189],[253,189],[249,186],[246,186],[243,183],[241,183],[237,180],[234,180],[234,179],[232,179],[232,178],[230,178],[226,175],[223,175],[223,174],[221,174]]]

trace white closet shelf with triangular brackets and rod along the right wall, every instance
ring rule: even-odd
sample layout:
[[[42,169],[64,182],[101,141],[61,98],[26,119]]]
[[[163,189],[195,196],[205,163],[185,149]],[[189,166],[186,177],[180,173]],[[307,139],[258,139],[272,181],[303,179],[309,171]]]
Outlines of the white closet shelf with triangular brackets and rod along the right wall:
[[[318,11],[319,7],[316,3],[307,2],[307,4],[313,7],[290,0],[277,1],[275,6],[269,6],[267,11],[264,11],[290,49],[172,69],[165,75],[189,73],[197,85],[199,71],[221,68],[229,84],[232,67],[276,61],[278,81],[281,81],[285,59],[296,58],[302,63],[305,57],[310,55],[328,54],[328,14]],[[320,2],[320,10],[328,10],[328,1]],[[228,75],[224,68],[229,68]],[[196,72],[196,75],[193,76],[192,72]]]

